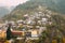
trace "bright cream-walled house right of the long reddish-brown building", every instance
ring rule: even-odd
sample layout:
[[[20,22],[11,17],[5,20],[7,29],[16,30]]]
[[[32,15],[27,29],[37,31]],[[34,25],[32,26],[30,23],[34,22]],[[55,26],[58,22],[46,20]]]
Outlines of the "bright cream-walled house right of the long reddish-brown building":
[[[29,33],[30,37],[28,37],[27,40],[38,40],[39,39],[39,31],[37,29],[28,30],[28,32],[30,32]]]

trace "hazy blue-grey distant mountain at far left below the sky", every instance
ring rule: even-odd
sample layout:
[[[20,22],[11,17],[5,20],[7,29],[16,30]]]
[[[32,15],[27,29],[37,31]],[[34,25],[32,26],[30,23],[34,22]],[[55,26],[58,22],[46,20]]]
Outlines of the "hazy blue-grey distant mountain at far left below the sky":
[[[3,17],[4,15],[9,14],[14,6],[8,8],[8,6],[0,6],[0,18]]]

